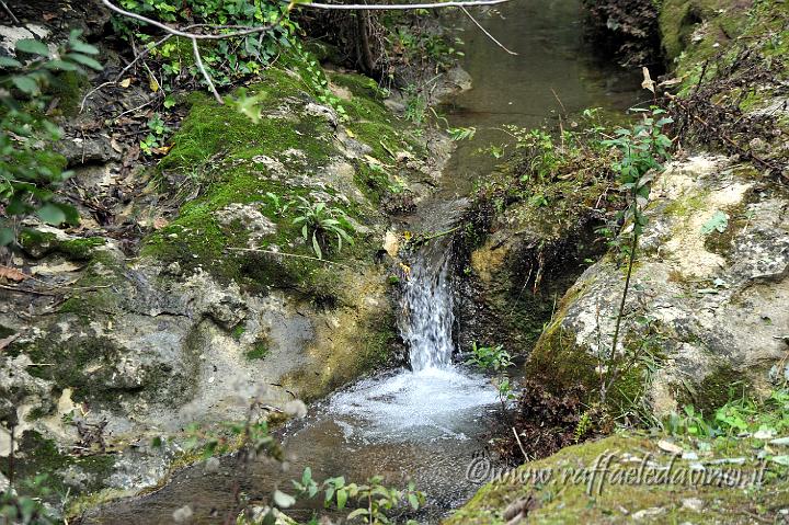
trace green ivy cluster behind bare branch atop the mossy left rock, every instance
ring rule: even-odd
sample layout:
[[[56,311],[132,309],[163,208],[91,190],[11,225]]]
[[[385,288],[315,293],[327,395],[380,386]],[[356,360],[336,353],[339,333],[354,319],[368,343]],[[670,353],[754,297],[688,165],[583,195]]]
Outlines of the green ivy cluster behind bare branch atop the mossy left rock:
[[[219,33],[237,31],[222,26],[253,27],[278,21],[267,33],[201,44],[206,70],[218,85],[228,85],[262,71],[282,46],[290,45],[297,30],[289,19],[287,3],[273,0],[121,0],[119,5],[161,22],[209,26]],[[179,81],[202,78],[187,39],[174,37],[157,47],[160,35],[149,26],[124,16],[113,18],[113,24],[122,35],[142,42],[152,57],[162,60],[162,89],[170,91]],[[152,81],[159,83],[156,78]]]

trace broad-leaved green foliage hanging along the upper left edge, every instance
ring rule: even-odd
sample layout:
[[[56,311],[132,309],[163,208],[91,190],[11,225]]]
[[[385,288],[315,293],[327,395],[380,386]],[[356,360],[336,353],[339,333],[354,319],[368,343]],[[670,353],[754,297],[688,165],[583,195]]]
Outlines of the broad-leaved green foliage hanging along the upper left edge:
[[[79,222],[77,210],[55,193],[71,173],[54,151],[62,129],[46,106],[59,76],[102,69],[93,58],[99,50],[80,36],[71,32],[55,54],[39,41],[21,39],[16,58],[0,57],[0,247],[14,241],[20,220],[31,214],[55,226]]]

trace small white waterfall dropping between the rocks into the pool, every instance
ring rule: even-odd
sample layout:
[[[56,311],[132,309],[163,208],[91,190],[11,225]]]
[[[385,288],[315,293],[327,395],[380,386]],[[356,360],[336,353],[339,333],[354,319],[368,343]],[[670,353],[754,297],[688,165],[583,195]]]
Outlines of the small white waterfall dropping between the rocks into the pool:
[[[455,321],[449,247],[435,239],[416,254],[400,297],[400,335],[410,349],[411,368],[445,368],[451,363]]]

